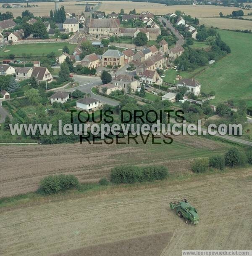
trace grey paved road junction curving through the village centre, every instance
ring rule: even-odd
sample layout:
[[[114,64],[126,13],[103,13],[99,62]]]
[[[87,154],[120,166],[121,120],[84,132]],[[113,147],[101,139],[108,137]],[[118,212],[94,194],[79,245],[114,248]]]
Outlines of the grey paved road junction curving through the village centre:
[[[83,93],[90,93],[92,98],[97,99],[99,101],[103,101],[105,104],[109,104],[111,106],[117,106],[119,104],[119,101],[115,101],[113,99],[92,93],[92,91],[91,91],[92,87],[97,86],[97,85],[102,85],[100,77],[87,77],[87,76],[82,76],[82,75],[74,75],[73,78],[76,82],[79,82],[80,85],[77,87],[74,87],[72,89],[65,89],[63,91],[73,92],[76,89],[78,89],[78,90],[82,91]]]

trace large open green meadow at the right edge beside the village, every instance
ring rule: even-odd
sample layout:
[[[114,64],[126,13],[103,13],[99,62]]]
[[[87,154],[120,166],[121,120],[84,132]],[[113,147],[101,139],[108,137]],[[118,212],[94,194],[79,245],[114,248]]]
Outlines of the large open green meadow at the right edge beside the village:
[[[252,99],[252,34],[218,30],[231,53],[195,78],[205,93],[215,91],[213,103]]]

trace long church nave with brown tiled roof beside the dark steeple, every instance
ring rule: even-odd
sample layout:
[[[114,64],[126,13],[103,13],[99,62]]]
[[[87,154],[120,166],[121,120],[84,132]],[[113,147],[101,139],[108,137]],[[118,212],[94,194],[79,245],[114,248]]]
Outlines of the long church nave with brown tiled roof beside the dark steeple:
[[[119,19],[91,19],[88,32],[95,35],[118,35]]]

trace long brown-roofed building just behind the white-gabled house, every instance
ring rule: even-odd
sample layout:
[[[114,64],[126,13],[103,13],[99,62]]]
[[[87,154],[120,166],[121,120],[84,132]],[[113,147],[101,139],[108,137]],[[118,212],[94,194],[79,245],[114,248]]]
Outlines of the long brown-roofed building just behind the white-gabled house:
[[[166,66],[166,59],[160,54],[150,56],[147,60],[139,64],[136,67],[136,75],[142,76],[143,72],[148,70],[156,70],[157,68],[162,69]]]

